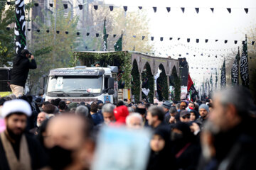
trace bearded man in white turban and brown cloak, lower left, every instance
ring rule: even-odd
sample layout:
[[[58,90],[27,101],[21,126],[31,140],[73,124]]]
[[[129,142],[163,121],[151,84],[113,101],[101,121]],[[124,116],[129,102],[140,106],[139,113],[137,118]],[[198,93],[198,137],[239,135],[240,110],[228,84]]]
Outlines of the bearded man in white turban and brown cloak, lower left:
[[[23,100],[6,101],[2,108],[6,130],[0,133],[0,169],[41,169],[47,165],[39,142],[25,132],[31,106]]]

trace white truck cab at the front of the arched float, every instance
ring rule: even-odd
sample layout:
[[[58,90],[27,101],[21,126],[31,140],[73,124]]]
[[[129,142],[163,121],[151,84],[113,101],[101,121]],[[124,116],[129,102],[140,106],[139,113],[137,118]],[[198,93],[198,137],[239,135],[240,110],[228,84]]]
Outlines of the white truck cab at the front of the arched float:
[[[46,101],[60,98],[75,103],[97,100],[116,103],[118,85],[114,77],[117,73],[115,66],[51,69],[46,81]]]

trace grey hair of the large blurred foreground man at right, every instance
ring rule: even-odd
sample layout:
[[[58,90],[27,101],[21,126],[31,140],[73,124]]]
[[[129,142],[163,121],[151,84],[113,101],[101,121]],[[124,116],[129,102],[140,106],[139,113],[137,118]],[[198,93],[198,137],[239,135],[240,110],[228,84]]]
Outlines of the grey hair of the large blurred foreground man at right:
[[[220,96],[220,103],[223,106],[228,106],[228,104],[235,106],[241,117],[249,116],[255,107],[250,91],[242,86],[223,89],[215,96]]]

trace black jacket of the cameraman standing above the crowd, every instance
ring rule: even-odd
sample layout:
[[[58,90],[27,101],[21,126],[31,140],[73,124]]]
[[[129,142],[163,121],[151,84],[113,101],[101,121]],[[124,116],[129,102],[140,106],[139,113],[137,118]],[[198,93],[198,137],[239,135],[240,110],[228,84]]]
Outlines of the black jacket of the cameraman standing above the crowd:
[[[28,60],[28,57],[18,56],[14,59],[14,67],[11,70],[11,84],[25,86],[29,69],[36,69],[36,60]]]

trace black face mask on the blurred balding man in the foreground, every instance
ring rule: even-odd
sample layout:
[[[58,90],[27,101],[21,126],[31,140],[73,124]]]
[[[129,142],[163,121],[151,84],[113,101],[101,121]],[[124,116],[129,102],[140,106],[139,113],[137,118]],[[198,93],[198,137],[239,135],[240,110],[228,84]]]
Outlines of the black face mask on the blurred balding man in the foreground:
[[[71,164],[72,151],[63,147],[55,146],[49,149],[50,166],[53,169],[64,169]]]

